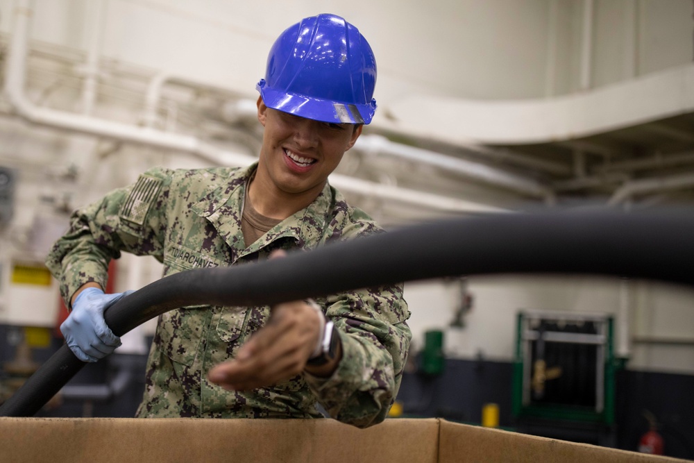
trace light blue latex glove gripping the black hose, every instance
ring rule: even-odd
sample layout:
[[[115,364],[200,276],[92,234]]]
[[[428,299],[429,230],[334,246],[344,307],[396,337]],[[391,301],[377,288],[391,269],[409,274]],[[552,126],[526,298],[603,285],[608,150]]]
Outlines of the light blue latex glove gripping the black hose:
[[[60,325],[67,346],[78,359],[96,362],[121,345],[121,338],[106,326],[103,311],[131,293],[103,294],[101,289],[90,287],[78,294],[70,316]]]

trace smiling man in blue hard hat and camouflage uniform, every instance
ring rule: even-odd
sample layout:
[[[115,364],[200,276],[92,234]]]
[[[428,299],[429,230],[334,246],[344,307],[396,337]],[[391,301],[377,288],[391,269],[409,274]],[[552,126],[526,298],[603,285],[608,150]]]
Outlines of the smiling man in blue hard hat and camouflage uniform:
[[[376,67],[357,28],[335,15],[303,19],[273,45],[257,85],[264,126],[247,169],[153,168],[74,212],[47,264],[72,308],[63,324],[81,360],[120,343],[103,294],[121,251],[153,255],[164,276],[281,257],[382,231],[328,184],[375,112]],[[339,264],[339,262],[336,262]],[[403,288],[370,288],[273,308],[186,307],[162,314],[137,416],[330,416],[384,419],[411,334]]]

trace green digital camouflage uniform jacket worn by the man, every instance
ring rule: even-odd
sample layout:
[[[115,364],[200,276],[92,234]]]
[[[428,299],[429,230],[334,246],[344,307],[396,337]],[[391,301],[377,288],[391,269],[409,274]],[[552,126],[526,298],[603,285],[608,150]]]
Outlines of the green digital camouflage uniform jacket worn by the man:
[[[153,168],[135,185],[76,211],[46,264],[66,303],[78,287],[105,287],[120,251],[153,255],[164,276],[187,269],[264,260],[274,249],[313,249],[380,233],[361,210],[325,185],[316,200],[246,248],[241,232],[247,169]],[[272,387],[228,392],[206,378],[268,320],[270,308],[195,306],[162,314],[149,353],[137,416],[330,416],[355,426],[384,419],[402,378],[411,333],[403,287],[364,289],[316,299],[340,332],[343,358],[330,378],[302,373]]]

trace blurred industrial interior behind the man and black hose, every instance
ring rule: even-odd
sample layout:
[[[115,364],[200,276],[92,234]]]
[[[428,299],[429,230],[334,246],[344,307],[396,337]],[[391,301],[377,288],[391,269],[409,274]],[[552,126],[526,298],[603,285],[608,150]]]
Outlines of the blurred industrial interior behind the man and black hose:
[[[357,25],[378,60],[378,112],[331,183],[386,228],[694,199],[691,0],[0,0],[0,401],[62,343],[43,260],[69,212],[155,165],[253,162],[267,52],[319,12]],[[161,270],[124,255],[110,289]],[[694,459],[692,289],[475,276],[405,298],[393,416],[634,451],[655,431]],[[152,332],[42,416],[132,416]]]

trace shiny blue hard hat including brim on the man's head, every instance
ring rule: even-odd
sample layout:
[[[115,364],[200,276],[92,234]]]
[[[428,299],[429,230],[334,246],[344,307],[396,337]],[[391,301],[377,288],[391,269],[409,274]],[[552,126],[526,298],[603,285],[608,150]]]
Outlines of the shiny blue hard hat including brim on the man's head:
[[[256,87],[268,108],[316,121],[369,124],[375,84],[369,42],[344,18],[324,14],[278,37]]]

